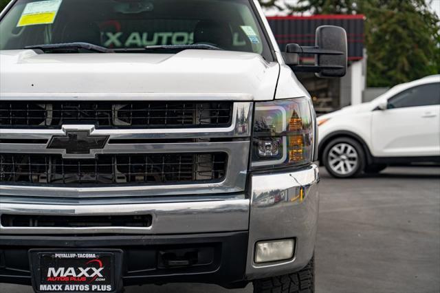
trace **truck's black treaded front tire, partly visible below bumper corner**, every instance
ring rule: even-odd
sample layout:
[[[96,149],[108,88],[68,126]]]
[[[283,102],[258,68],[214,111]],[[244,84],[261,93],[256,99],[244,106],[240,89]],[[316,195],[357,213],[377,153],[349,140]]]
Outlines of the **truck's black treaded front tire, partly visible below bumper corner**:
[[[313,293],[315,292],[315,265],[312,257],[298,272],[254,281],[254,293]]]

